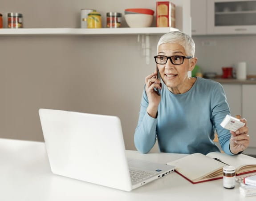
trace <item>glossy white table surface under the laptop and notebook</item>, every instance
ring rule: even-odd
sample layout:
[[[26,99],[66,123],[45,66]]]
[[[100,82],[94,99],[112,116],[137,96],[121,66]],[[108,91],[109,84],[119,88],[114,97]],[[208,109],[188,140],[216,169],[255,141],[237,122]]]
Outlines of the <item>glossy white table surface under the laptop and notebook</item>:
[[[131,158],[166,163],[183,154],[126,151]],[[189,167],[188,167],[189,168]],[[42,142],[0,139],[0,201],[255,201],[243,197],[239,185],[223,181],[191,184],[171,173],[131,192],[90,184],[51,173]]]

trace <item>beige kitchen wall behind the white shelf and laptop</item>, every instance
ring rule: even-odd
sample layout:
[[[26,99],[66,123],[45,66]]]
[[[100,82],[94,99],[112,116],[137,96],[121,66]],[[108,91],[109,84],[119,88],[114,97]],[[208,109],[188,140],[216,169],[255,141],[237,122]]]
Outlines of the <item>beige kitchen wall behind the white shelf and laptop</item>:
[[[24,28],[79,28],[81,8],[101,12],[104,26],[106,12],[155,2],[2,0],[0,12],[23,13]],[[159,37],[150,36],[151,58]],[[38,109],[62,109],[120,117],[126,149],[135,149],[144,79],[155,68],[137,36],[0,36],[0,47],[0,137],[43,141]]]

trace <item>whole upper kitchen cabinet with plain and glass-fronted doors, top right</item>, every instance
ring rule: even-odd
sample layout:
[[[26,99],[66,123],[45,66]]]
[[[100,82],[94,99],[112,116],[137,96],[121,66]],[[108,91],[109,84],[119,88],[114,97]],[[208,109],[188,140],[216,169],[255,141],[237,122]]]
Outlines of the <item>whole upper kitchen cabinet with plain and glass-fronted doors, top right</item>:
[[[191,17],[192,35],[256,34],[256,0],[193,0]]]

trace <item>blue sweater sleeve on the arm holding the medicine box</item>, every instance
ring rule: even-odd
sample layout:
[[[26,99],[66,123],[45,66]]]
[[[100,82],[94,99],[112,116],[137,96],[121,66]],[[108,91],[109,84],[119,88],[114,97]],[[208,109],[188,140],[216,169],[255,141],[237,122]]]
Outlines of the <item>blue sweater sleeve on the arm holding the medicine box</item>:
[[[227,114],[230,115],[227,97],[222,85],[218,83],[216,84],[211,97],[211,120],[218,133],[219,144],[223,151],[229,155],[236,155],[231,153],[229,149],[231,133],[220,125]]]

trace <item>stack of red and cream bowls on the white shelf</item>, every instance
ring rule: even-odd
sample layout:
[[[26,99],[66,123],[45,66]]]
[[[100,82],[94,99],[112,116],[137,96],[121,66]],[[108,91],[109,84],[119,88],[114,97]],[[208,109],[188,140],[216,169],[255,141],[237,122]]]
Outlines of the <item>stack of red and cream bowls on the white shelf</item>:
[[[129,27],[150,27],[153,21],[154,11],[147,8],[125,9],[125,20]]]

